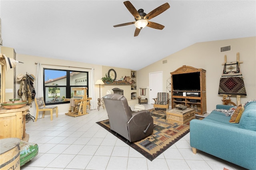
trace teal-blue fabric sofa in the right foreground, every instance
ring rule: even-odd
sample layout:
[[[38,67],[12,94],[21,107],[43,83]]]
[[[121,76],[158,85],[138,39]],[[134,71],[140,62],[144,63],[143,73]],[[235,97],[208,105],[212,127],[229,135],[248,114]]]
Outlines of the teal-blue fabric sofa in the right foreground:
[[[216,105],[216,109],[232,106]],[[256,170],[256,101],[244,106],[239,123],[231,117],[212,111],[203,120],[190,121],[190,146],[249,170]]]

